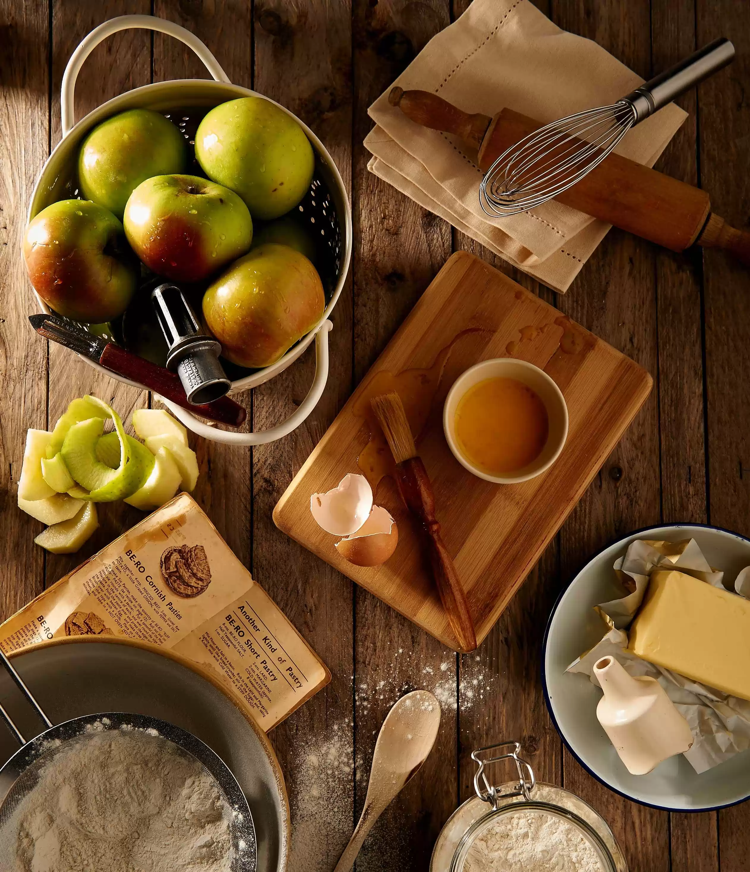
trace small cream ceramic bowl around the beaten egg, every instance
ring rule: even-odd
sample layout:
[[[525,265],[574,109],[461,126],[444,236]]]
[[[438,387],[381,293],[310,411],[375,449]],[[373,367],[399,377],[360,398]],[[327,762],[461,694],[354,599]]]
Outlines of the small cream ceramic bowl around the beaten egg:
[[[468,460],[466,455],[461,452],[455,438],[456,409],[460,400],[469,388],[487,378],[515,378],[522,384],[528,385],[547,409],[549,434],[542,452],[535,460],[517,470],[513,475],[490,475],[480,467],[475,467],[471,460]],[[443,430],[448,446],[453,452],[453,457],[459,461],[462,467],[485,481],[494,481],[498,485],[513,485],[519,481],[533,479],[536,475],[549,469],[557,460],[565,445],[565,439],[568,438],[568,406],[565,405],[560,388],[538,366],[529,364],[525,360],[515,360],[515,358],[492,358],[474,364],[466,372],[461,373],[459,378],[456,378],[446,397],[446,405],[443,406]]]

